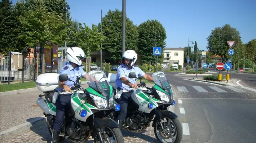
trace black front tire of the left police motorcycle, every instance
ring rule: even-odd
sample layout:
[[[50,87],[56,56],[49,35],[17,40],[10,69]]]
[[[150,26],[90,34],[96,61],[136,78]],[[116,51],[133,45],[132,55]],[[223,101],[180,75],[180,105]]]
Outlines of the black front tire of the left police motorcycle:
[[[103,127],[105,127],[105,128],[107,127],[108,129],[110,129],[112,131],[112,133],[114,134],[114,136],[116,138],[117,143],[124,143],[124,137],[119,128],[110,128],[108,125],[102,125],[100,128],[102,129]],[[96,136],[97,137],[94,138],[94,142],[100,143],[100,141],[97,141],[98,135],[96,135]]]

